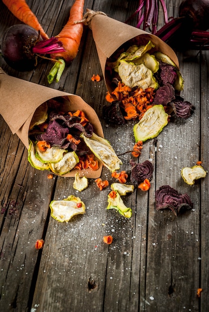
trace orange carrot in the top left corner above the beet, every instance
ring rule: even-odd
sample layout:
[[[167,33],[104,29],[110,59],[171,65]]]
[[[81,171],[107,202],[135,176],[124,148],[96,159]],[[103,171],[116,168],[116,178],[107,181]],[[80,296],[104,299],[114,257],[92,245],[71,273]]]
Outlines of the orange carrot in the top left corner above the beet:
[[[41,27],[37,17],[31,11],[25,0],[2,0],[9,11],[26,25],[40,31],[42,39],[48,39],[47,34]]]

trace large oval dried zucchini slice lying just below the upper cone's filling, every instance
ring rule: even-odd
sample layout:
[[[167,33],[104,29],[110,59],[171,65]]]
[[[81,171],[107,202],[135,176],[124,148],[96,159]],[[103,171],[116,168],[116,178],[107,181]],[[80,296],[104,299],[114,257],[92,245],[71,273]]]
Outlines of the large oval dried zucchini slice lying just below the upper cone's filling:
[[[154,105],[145,112],[139,123],[134,126],[135,141],[145,142],[156,138],[167,124],[168,114],[163,105]]]

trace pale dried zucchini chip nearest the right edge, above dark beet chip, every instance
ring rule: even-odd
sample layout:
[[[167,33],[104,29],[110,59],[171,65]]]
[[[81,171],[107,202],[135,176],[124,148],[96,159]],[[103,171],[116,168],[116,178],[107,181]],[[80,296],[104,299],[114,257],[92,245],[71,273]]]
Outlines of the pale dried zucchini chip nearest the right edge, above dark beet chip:
[[[201,165],[185,167],[181,170],[184,181],[189,184],[195,184],[195,180],[206,177],[207,171]]]

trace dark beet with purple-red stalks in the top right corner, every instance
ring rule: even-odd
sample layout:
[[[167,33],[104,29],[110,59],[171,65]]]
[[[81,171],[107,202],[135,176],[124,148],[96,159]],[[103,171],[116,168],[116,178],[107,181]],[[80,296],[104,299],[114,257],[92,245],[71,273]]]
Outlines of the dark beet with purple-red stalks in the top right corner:
[[[157,30],[158,9],[163,8],[165,25]],[[178,50],[209,49],[209,0],[183,0],[179,6],[179,16],[168,18],[164,0],[139,0],[137,10],[126,20],[137,15],[137,28],[147,28]]]

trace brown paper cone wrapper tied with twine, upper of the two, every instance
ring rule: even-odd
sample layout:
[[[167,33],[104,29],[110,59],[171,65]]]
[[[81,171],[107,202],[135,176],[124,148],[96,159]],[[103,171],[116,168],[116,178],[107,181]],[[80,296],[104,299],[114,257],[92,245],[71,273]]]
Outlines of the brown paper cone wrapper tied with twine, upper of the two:
[[[105,72],[106,61],[116,50],[124,45],[124,43],[130,42],[129,46],[133,44],[139,46],[146,45],[148,41],[151,40],[151,42],[155,44],[155,48],[152,48],[149,53],[155,51],[163,52],[168,55],[179,68],[179,61],[174,50],[160,38],[144,30],[130,26],[103,14],[93,16],[91,20],[91,29],[106,87],[110,93],[113,91],[113,87]]]

